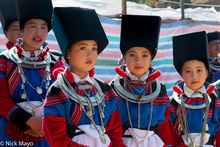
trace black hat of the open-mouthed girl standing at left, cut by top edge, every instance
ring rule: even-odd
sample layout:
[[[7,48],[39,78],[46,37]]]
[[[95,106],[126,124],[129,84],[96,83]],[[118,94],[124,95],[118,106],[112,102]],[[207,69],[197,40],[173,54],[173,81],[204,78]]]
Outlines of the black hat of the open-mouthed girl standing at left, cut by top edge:
[[[51,0],[16,0],[18,20],[22,30],[30,19],[43,19],[51,30],[53,6]]]

